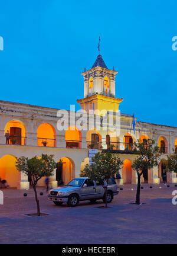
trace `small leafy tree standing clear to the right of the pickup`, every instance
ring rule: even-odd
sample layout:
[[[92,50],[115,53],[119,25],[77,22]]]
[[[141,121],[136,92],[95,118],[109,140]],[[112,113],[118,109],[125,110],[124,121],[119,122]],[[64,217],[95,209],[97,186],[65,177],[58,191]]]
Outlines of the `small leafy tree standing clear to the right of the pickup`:
[[[137,173],[137,191],[136,191],[136,204],[140,204],[140,177],[145,174],[147,169],[151,169],[158,165],[158,159],[160,156],[158,146],[154,146],[155,141],[152,139],[144,140],[140,143],[137,140],[135,146],[139,156],[133,161],[132,168]]]

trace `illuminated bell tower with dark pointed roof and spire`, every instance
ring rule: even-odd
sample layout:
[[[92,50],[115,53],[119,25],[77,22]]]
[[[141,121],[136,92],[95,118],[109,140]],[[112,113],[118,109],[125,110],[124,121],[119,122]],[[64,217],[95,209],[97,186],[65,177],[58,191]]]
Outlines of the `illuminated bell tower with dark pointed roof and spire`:
[[[84,98],[77,100],[81,109],[86,110],[87,113],[89,110],[94,110],[95,114],[101,110],[119,110],[123,98],[115,98],[117,73],[114,69],[107,68],[103,57],[99,54],[91,69],[81,73],[84,76]]]

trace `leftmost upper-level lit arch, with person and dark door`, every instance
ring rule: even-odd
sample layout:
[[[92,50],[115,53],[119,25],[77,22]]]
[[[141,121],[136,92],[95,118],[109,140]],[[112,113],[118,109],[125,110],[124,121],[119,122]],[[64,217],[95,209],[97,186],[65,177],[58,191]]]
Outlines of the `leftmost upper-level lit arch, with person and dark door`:
[[[10,145],[26,145],[27,128],[22,121],[11,120],[6,123],[4,128],[4,135],[9,133],[9,140],[6,144]]]

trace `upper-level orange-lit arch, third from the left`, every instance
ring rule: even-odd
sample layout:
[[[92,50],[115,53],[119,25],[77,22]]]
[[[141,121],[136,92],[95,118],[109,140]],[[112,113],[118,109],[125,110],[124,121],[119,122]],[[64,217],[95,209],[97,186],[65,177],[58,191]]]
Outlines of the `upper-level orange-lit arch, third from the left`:
[[[67,148],[81,148],[82,134],[76,126],[70,126],[65,131]]]

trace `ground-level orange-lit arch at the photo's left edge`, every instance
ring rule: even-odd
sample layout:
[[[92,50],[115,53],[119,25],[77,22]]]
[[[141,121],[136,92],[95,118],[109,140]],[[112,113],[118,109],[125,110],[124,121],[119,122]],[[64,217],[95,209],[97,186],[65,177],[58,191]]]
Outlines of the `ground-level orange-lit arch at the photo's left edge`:
[[[6,180],[9,187],[17,187],[20,178],[20,172],[15,167],[16,158],[13,155],[4,155],[0,159],[0,178]]]

